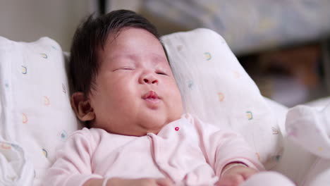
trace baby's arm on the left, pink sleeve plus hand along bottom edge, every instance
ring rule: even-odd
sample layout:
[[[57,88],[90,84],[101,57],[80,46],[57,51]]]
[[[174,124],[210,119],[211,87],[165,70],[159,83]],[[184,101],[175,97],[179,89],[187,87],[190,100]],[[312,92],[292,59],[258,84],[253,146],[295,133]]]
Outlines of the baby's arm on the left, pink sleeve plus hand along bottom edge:
[[[116,185],[155,185],[171,186],[171,180],[160,178],[106,180],[102,175],[92,173],[91,157],[97,147],[97,139],[89,130],[75,132],[68,138],[63,148],[56,156],[56,162],[49,168],[44,179],[45,185],[83,185],[83,186],[116,186]]]

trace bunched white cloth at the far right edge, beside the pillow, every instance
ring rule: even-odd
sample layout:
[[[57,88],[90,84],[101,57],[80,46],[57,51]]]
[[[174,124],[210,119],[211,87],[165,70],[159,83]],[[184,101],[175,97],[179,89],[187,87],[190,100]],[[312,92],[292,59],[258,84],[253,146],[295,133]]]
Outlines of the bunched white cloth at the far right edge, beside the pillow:
[[[299,185],[329,185],[330,104],[323,107],[293,107],[288,111],[286,118],[286,132],[288,139],[305,149],[306,153],[316,157]]]

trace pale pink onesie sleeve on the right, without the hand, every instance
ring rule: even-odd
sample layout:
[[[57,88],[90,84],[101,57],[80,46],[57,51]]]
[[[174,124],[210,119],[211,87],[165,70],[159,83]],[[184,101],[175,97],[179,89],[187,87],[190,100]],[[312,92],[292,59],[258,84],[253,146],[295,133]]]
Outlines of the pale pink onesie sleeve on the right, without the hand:
[[[264,170],[255,151],[252,151],[242,135],[232,130],[221,130],[214,125],[203,123],[190,114],[186,114],[185,118],[195,125],[204,156],[219,177],[224,166],[233,162],[243,163],[258,171]]]

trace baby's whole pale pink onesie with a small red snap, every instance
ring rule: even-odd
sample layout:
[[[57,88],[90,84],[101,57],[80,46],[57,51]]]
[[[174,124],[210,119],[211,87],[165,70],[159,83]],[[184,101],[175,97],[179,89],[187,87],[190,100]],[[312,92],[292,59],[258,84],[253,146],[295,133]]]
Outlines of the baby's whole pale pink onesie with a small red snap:
[[[90,178],[170,178],[176,185],[214,185],[227,163],[264,170],[236,132],[184,114],[155,135],[74,132],[47,173],[47,185],[82,185]]]

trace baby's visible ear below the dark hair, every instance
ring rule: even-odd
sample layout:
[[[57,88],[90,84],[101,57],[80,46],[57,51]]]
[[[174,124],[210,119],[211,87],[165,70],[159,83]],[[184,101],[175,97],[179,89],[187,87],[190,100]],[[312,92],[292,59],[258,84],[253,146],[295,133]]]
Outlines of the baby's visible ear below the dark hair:
[[[90,106],[90,100],[85,97],[84,93],[73,93],[71,97],[71,106],[80,120],[94,120],[94,109]]]

